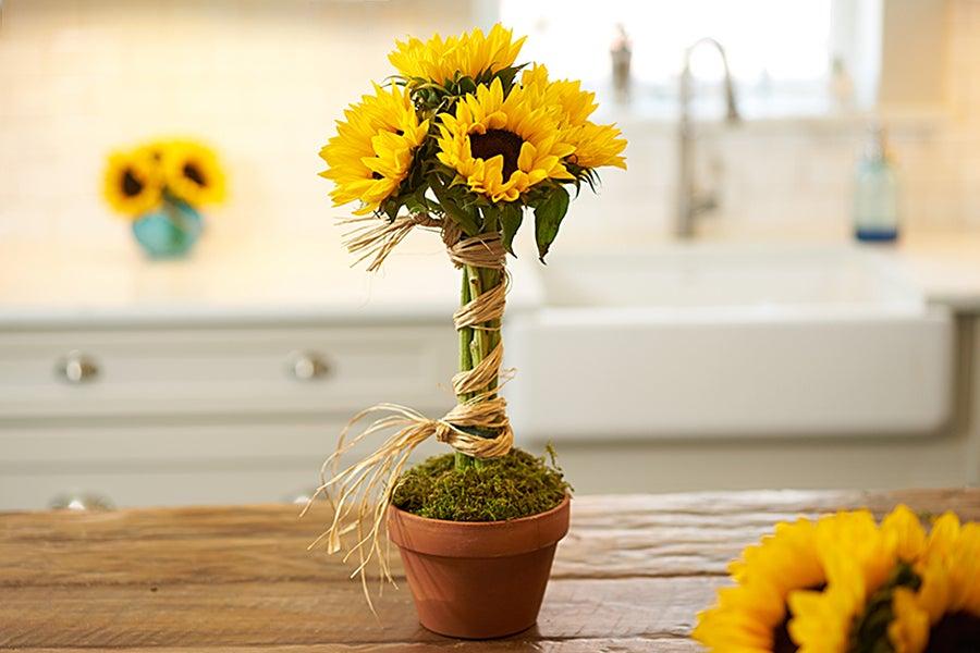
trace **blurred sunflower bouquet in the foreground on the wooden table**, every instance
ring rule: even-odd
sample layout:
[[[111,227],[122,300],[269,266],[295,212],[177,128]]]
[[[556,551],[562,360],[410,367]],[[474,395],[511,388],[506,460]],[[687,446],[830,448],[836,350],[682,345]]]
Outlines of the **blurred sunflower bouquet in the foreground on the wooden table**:
[[[780,523],[698,615],[713,653],[980,651],[980,525],[906,506]]]

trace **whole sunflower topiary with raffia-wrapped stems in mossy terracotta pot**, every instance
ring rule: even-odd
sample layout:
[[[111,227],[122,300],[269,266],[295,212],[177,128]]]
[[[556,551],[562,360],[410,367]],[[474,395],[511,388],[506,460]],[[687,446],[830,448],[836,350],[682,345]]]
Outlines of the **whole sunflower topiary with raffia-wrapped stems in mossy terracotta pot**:
[[[397,42],[395,74],[344,112],[320,156],[335,205],[359,202],[347,248],[377,270],[413,230],[440,234],[460,269],[457,404],[432,419],[381,404],[352,419],[324,463],[316,495],[334,515],[311,546],[347,551],[365,583],[377,559],[390,579],[384,530],[399,546],[419,620],[443,634],[490,638],[530,627],[555,545],[568,528],[568,486],[543,458],[513,448],[498,393],[506,256],[532,217],[543,261],[569,200],[593,190],[597,169],[625,168],[625,139],[589,120],[595,95],[552,81],[543,65],[516,64],[524,39],[497,25],[486,35]],[[377,420],[353,438],[362,419]],[[340,457],[387,433],[370,456]],[[407,469],[434,436],[454,454]],[[347,540],[344,541],[344,535]],[[370,596],[368,595],[370,603]]]

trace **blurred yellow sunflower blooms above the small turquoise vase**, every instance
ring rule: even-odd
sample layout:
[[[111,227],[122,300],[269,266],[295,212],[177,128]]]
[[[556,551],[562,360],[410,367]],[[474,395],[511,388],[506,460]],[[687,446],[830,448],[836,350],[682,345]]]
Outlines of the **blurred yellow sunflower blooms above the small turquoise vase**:
[[[192,207],[224,199],[225,181],[215,152],[189,139],[144,143],[109,155],[102,195],[119,213],[137,219],[163,202]]]

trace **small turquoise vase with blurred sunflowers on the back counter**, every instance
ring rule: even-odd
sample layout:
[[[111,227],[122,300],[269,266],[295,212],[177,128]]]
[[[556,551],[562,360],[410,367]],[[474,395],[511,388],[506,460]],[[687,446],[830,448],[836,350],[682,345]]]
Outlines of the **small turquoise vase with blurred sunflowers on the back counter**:
[[[224,174],[215,152],[199,143],[155,140],[109,156],[102,194],[133,221],[147,254],[181,256],[200,234],[198,209],[224,199]]]

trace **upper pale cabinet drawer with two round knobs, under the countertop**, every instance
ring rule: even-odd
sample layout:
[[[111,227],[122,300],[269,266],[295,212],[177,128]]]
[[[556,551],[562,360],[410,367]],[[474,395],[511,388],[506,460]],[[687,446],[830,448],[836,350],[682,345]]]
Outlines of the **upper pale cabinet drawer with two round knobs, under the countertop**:
[[[0,333],[0,420],[442,405],[451,326]]]

